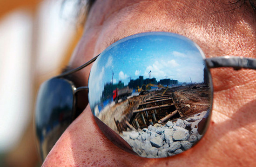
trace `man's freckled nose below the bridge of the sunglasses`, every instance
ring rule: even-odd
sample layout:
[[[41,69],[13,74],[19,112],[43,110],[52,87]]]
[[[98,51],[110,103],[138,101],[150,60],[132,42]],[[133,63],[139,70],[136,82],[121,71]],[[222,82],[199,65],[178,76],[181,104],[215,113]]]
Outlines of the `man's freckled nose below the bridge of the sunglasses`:
[[[120,164],[134,166],[134,160],[136,159],[138,163],[140,157],[118,148],[105,137],[100,128],[98,128],[88,106],[61,135],[42,166],[120,167]],[[130,160],[133,160],[133,162]],[[147,159],[142,161],[145,160]]]

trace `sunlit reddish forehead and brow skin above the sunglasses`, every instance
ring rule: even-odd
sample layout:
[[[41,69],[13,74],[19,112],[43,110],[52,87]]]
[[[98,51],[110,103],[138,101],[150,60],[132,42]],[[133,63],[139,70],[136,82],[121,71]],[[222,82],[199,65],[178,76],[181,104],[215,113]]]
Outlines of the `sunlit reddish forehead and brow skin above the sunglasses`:
[[[255,39],[247,37],[255,34],[253,14],[249,9],[239,8],[236,13],[229,9],[229,0],[97,0],[71,64],[81,65],[118,39],[151,31],[184,35],[206,57],[252,55],[248,51],[254,50]]]

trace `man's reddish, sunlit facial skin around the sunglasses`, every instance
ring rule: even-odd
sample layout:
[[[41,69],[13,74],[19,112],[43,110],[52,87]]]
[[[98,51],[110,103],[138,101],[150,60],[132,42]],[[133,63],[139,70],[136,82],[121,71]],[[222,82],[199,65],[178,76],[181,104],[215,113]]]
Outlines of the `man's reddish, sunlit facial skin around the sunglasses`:
[[[174,32],[192,39],[206,57],[256,57],[256,13],[229,0],[97,0],[70,61],[77,67],[111,43],[140,32]],[[238,7],[238,8],[237,8]],[[237,8],[236,10],[233,10]],[[87,85],[89,68],[79,71]],[[256,71],[211,70],[214,104],[208,132],[174,157],[129,154],[102,134],[89,105],[67,128],[44,166],[256,166]]]

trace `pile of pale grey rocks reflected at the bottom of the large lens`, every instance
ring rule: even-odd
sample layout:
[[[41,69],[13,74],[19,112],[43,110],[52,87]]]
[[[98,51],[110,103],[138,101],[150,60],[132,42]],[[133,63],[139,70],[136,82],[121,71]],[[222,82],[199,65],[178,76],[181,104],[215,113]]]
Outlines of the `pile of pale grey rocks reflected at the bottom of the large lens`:
[[[162,158],[180,154],[201,139],[197,124],[206,112],[203,111],[184,121],[168,121],[164,126],[156,123],[142,130],[123,132],[121,137],[142,157]]]

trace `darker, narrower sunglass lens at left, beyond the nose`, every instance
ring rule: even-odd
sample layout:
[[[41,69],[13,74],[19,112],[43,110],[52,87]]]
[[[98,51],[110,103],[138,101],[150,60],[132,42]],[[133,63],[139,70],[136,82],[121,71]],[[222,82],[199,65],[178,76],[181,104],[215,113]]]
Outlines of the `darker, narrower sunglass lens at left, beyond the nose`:
[[[71,123],[73,103],[72,84],[67,80],[53,78],[41,85],[37,96],[35,125],[42,160]]]

